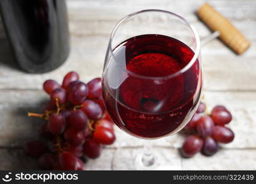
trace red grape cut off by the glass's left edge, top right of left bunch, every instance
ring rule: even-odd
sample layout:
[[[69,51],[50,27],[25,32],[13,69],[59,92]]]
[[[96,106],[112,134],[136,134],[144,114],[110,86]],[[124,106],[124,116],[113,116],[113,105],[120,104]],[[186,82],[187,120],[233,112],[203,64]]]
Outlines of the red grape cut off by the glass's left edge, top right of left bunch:
[[[102,96],[102,79],[96,78],[88,83],[89,98],[100,98]]]

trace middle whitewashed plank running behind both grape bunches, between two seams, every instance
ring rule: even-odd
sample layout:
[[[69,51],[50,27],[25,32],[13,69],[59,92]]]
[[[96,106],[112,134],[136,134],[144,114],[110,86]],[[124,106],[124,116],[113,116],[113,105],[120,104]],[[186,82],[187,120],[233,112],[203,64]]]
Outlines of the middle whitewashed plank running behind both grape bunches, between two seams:
[[[209,109],[223,104],[233,114],[230,128],[236,134],[234,142],[225,145],[228,148],[256,148],[256,96],[255,93],[210,92],[205,98]],[[27,117],[27,112],[41,112],[47,95],[43,91],[7,91],[0,90],[0,146],[20,147],[29,140],[38,138],[38,130],[44,120]],[[143,140],[132,137],[116,128],[116,142],[111,148],[142,147]],[[177,134],[164,139],[153,140],[153,144],[161,147],[182,145],[183,135]]]

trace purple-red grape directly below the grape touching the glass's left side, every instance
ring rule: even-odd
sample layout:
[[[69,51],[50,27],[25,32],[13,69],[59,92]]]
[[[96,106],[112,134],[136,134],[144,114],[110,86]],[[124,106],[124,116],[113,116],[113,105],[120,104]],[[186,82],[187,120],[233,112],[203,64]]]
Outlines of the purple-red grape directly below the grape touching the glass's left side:
[[[82,102],[81,109],[92,120],[98,120],[102,117],[102,108],[94,101],[86,100]]]

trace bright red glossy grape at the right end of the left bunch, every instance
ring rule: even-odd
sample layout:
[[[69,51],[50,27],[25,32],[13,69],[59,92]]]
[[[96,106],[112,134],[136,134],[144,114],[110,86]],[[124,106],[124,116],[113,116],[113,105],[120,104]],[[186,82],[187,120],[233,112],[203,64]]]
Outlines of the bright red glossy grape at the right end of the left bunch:
[[[116,136],[114,136],[114,132],[110,131],[110,129],[99,127],[95,129],[94,140],[99,144],[110,145],[116,140]]]

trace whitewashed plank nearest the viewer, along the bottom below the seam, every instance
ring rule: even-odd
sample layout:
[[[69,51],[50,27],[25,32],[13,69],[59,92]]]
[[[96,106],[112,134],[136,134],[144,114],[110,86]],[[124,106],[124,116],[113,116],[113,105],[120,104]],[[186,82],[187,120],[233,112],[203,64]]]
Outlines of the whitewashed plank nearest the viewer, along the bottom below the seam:
[[[100,158],[86,163],[86,170],[135,170],[134,161],[140,151],[142,151],[142,148],[122,148],[116,152],[105,149]],[[214,156],[204,156],[198,153],[193,158],[182,158],[179,151],[172,148],[158,147],[154,151],[156,161],[159,164],[152,170],[256,169],[256,150],[220,148]]]

